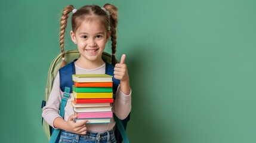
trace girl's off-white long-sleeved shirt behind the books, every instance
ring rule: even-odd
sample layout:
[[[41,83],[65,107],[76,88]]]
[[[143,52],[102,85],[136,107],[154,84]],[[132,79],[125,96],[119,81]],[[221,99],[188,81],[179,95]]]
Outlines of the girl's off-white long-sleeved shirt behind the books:
[[[96,69],[82,69],[78,67],[75,63],[76,74],[104,74],[106,69],[106,64],[103,64]],[[116,91],[116,100],[113,103],[112,111],[116,114],[119,119],[125,119],[131,111],[131,92],[129,95],[125,95],[118,86]],[[57,73],[57,76],[54,79],[53,89],[48,98],[47,104],[43,108],[42,117],[45,121],[54,128],[53,122],[57,117],[60,116],[60,102],[63,97],[63,92],[60,89],[60,76]],[[67,100],[66,107],[64,108],[64,120],[67,121],[69,116],[74,114],[73,106],[71,102],[74,100],[72,94],[71,98]],[[112,129],[115,126],[115,120],[113,118],[110,120],[110,123],[106,124],[87,124],[88,132],[105,132]]]

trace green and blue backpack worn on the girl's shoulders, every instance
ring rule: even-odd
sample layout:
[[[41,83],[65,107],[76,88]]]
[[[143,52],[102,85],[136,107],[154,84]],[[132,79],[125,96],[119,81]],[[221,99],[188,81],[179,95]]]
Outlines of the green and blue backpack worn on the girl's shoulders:
[[[69,63],[69,64],[62,67],[61,69],[60,69],[61,62],[62,62],[61,54],[59,54],[53,60],[53,62],[50,65],[50,69],[48,71],[47,86],[45,88],[45,100],[42,101],[41,108],[43,108],[46,105],[46,102],[48,101],[48,97],[50,95],[50,92],[51,92],[51,89],[52,89],[52,86],[53,86],[53,81],[54,81],[58,71],[60,71],[60,88],[61,88],[61,91],[66,92],[66,89],[70,88],[67,91],[69,93],[72,93],[72,85],[73,85],[72,74],[75,74],[74,62],[79,57],[80,57],[80,54],[79,54],[78,50],[66,51],[65,52],[65,60],[66,60],[66,63]],[[112,56],[110,54],[108,54],[107,52],[103,52],[102,58],[103,58],[103,61],[106,63],[106,74],[109,74],[110,76],[113,76],[114,66],[111,65]],[[116,80],[114,77],[112,79],[113,79],[113,98],[115,99],[115,91],[116,91],[116,88],[119,85],[119,80]],[[68,87],[68,88],[65,88],[65,87]],[[62,103],[63,103],[63,101],[61,100],[61,104]],[[63,113],[64,113],[64,110],[63,110]],[[130,116],[130,114],[128,115],[128,117],[126,119],[120,120],[120,119],[118,119],[118,117],[115,116],[115,114],[113,114],[113,118],[115,119],[115,122],[116,122],[114,132],[115,132],[115,138],[116,138],[117,142],[122,142],[123,139],[124,139],[125,143],[129,142],[128,138],[127,138],[127,135],[125,133],[125,130],[126,130],[126,127],[127,127],[127,122],[129,121],[129,116]],[[45,122],[45,120],[43,118],[42,118],[42,126],[43,126],[44,131],[47,135],[47,138],[50,139],[51,135],[53,135],[53,132],[54,132],[55,129],[53,129],[50,125],[48,125],[48,123]],[[58,136],[58,139],[59,139],[59,136]],[[57,141],[58,141],[58,139],[57,139]]]

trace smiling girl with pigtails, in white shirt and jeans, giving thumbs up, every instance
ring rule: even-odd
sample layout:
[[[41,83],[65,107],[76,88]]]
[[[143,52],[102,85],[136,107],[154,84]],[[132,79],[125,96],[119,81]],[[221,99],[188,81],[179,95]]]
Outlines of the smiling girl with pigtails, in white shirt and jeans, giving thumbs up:
[[[107,12],[108,11],[108,12]],[[76,74],[103,74],[106,63],[101,58],[105,45],[109,38],[112,41],[112,59],[115,59],[116,51],[116,25],[117,8],[114,5],[105,4],[103,8],[97,5],[85,5],[76,10],[69,5],[63,10],[61,17],[60,46],[64,62],[64,32],[66,29],[68,14],[72,12],[72,41],[77,44],[81,57],[75,62]],[[125,119],[131,111],[131,89],[129,76],[125,65],[125,55],[122,55],[121,62],[115,64],[114,77],[120,80],[116,91],[116,100],[113,103],[113,113],[119,119]],[[111,119],[106,124],[87,124],[84,122],[75,123],[71,101],[67,101],[64,108],[64,118],[59,114],[60,102],[63,92],[60,90],[59,73],[55,77],[53,89],[48,98],[47,105],[43,108],[42,116],[54,129],[61,129],[60,142],[116,142],[113,134],[115,121]]]

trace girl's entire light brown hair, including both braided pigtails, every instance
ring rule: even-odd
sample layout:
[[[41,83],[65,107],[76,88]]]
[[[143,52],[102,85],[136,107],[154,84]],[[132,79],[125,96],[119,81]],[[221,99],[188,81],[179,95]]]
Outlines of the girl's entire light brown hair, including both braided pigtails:
[[[112,41],[112,65],[116,64],[115,52],[116,52],[116,26],[118,24],[118,9],[111,4],[105,4],[104,8],[109,11],[109,14],[106,13],[102,8],[98,5],[85,5],[84,7],[79,8],[74,14],[72,14],[71,25],[72,30],[75,33],[76,30],[81,26],[83,21],[92,21],[98,20],[99,23],[103,24],[106,32],[110,30],[110,37]],[[61,48],[61,56],[63,58],[63,62],[61,67],[66,65],[66,61],[64,60],[65,52],[64,52],[64,33],[67,27],[67,18],[69,17],[69,13],[72,12],[75,8],[73,5],[68,5],[63,9],[63,13],[60,21],[60,48]]]

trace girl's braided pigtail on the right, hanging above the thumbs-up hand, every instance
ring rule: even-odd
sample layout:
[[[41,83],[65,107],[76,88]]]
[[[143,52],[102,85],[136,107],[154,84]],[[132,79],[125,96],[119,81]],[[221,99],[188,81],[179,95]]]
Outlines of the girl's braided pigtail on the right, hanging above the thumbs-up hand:
[[[110,36],[112,41],[112,65],[116,64],[116,27],[118,24],[118,8],[111,4],[105,4],[104,8],[109,11],[109,20],[110,20]]]

